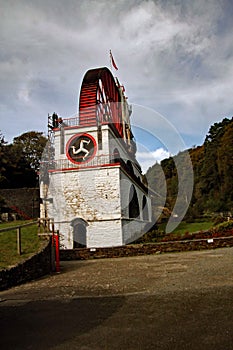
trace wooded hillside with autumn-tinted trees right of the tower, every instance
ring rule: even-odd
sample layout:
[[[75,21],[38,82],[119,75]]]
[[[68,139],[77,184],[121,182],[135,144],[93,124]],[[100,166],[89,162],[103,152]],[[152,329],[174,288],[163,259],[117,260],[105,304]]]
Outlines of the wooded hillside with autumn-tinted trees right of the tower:
[[[188,150],[194,172],[194,189],[186,217],[199,217],[212,212],[233,210],[233,118],[223,119],[209,129],[202,146]],[[147,171],[149,186],[158,194],[167,195],[165,207],[170,212],[178,191],[175,163],[182,153],[164,159]],[[180,164],[180,163],[179,163]],[[185,164],[183,164],[185,167]],[[166,179],[166,181],[165,181]],[[154,210],[157,205],[153,200]]]

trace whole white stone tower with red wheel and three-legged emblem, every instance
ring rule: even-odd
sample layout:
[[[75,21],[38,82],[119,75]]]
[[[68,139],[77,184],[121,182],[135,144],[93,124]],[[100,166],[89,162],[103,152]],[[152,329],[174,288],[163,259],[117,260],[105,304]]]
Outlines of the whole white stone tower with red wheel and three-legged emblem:
[[[104,67],[85,74],[77,116],[52,116],[54,156],[41,177],[41,216],[54,219],[62,249],[124,245],[150,223],[130,114],[124,87]]]

